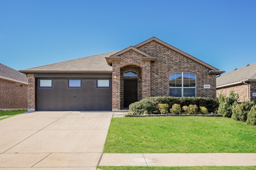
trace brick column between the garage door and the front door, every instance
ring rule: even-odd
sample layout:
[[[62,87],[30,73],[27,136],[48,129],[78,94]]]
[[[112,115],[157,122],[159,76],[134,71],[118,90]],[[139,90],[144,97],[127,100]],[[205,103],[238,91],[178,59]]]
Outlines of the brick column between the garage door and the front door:
[[[117,75],[117,78],[115,78]],[[120,110],[120,61],[112,63],[112,111]]]

